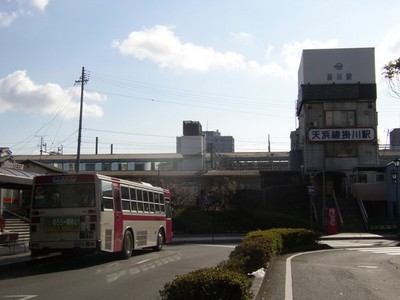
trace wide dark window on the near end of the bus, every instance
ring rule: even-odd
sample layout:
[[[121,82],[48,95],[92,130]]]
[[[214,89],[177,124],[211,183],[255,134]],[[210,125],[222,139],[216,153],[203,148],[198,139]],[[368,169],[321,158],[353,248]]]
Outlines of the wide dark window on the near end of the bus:
[[[37,185],[32,208],[72,208],[95,206],[93,183]]]

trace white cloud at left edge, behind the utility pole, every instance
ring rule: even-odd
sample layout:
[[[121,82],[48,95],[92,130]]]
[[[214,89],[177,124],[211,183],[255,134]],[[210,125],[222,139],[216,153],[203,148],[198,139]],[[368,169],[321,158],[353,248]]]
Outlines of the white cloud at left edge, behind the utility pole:
[[[26,70],[15,71],[0,79],[0,113],[18,111],[40,115],[59,114],[66,119],[79,116],[80,91],[78,87],[63,89],[58,84],[34,83]],[[86,93],[85,100],[100,101],[105,97],[98,93]],[[101,117],[103,110],[97,104],[86,103],[84,115]]]

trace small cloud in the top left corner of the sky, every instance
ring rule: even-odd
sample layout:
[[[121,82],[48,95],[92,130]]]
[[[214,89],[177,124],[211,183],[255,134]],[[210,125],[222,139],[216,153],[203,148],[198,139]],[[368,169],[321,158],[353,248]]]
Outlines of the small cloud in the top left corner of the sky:
[[[50,0],[20,0],[20,1],[9,1],[11,8],[9,11],[0,10],[0,28],[8,27],[17,18],[24,15],[31,14],[30,7],[34,7],[40,11],[44,11]]]

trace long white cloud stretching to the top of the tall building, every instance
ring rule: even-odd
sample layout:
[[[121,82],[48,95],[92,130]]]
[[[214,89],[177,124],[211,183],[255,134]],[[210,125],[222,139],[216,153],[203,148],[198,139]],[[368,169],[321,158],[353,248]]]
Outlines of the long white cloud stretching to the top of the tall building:
[[[253,72],[256,75],[268,76],[297,76],[301,52],[306,48],[333,48],[338,45],[337,40],[319,42],[305,40],[285,44],[279,60],[266,64],[254,60],[247,60],[244,55],[234,51],[218,52],[212,47],[185,43],[176,36],[173,27],[156,25],[142,31],[134,31],[123,41],[114,41],[113,47],[121,54],[133,56],[137,59],[148,59],[163,68],[186,69],[193,71],[209,71],[213,69],[242,70]],[[239,39],[249,39],[247,33],[231,33]],[[272,55],[272,46],[266,49],[265,57]]]

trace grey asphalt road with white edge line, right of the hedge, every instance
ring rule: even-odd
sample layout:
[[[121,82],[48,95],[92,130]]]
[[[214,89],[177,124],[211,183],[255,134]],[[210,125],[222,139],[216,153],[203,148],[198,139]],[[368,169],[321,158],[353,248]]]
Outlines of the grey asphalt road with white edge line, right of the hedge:
[[[336,248],[275,258],[263,299],[400,299],[400,247],[332,241]]]

